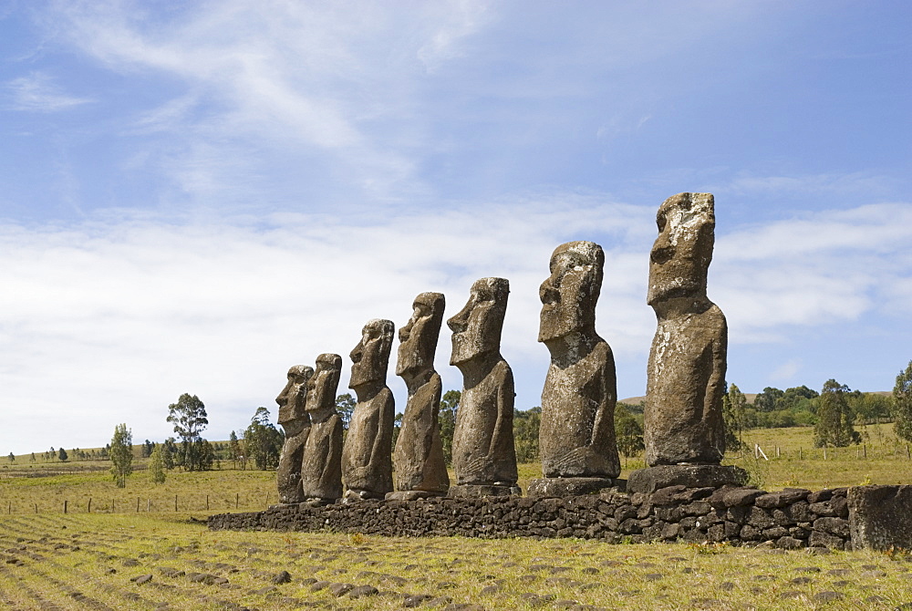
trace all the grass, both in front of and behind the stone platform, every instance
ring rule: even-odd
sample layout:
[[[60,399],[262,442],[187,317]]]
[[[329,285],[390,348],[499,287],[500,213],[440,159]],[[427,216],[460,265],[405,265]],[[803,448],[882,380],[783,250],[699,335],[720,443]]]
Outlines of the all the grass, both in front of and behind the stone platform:
[[[912,461],[889,425],[868,426],[864,447],[830,449],[826,460],[813,449],[811,429],[751,430],[743,439],[751,448],[760,445],[769,460],[750,451],[730,454],[726,462],[747,468],[767,490],[912,483]],[[21,457],[0,468],[0,606],[383,609],[402,608],[407,595],[427,596],[422,607],[486,609],[886,609],[912,603],[912,562],[901,554],[212,533],[204,526],[211,513],[275,503],[275,472],[170,471],[165,483],[154,484],[143,461],[136,467],[125,489],[114,486],[106,461]],[[641,458],[630,459],[622,477],[641,467]],[[538,464],[521,465],[520,485],[527,488],[539,474]],[[283,570],[292,581],[273,584]],[[131,581],[142,575],[151,575],[148,583]],[[333,593],[346,584],[378,594]]]

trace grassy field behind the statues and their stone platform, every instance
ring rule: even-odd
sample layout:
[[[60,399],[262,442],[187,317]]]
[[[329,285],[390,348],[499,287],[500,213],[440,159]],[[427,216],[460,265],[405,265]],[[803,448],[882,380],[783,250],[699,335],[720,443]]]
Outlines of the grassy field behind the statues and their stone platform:
[[[822,449],[814,448],[814,430],[756,429],[745,431],[750,447],[761,446],[769,460],[755,459],[753,451],[730,452],[727,464],[739,465],[751,473],[751,482],[766,490],[803,487],[812,490],[861,483],[912,483],[912,461],[907,446],[893,435],[891,424],[868,425],[865,444],[830,448],[824,460]],[[777,453],[778,449],[778,453]],[[150,481],[145,461],[136,460],[138,471],[119,489],[109,475],[108,461],[36,462],[17,459],[0,466],[0,514],[87,513],[174,513],[196,515],[230,511],[258,511],[277,501],[275,471],[226,469],[206,472],[169,471],[163,484]],[[2,459],[0,459],[2,460]],[[626,478],[644,466],[642,457],[622,460]],[[519,466],[519,484],[528,489],[530,480],[541,477],[537,463]],[[451,474],[452,477],[452,474]]]

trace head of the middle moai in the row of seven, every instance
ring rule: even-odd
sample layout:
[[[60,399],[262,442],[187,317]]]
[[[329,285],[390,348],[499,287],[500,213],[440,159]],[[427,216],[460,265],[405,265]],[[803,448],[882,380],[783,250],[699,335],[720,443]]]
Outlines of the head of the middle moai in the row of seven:
[[[441,293],[421,293],[415,297],[408,324],[399,328],[397,376],[413,375],[434,367],[445,305]]]

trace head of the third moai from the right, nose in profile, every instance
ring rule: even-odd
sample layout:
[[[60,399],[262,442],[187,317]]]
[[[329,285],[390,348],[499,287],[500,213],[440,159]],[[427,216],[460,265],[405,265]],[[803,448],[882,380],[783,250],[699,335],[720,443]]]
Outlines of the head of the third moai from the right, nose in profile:
[[[451,365],[459,365],[501,347],[503,316],[507,311],[510,281],[482,278],[472,285],[469,301],[447,321],[453,332]]]

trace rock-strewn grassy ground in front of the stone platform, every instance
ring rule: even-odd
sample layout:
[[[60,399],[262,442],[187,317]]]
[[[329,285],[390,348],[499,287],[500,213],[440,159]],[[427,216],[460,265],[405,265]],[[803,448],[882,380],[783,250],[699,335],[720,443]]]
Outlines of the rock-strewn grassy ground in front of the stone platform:
[[[912,601],[912,562],[868,552],[212,533],[135,514],[4,516],[0,548],[0,604],[12,609],[399,609],[409,595],[427,596],[421,607],[637,611]],[[274,584],[282,571],[290,583]],[[337,584],[377,593],[337,596]]]

